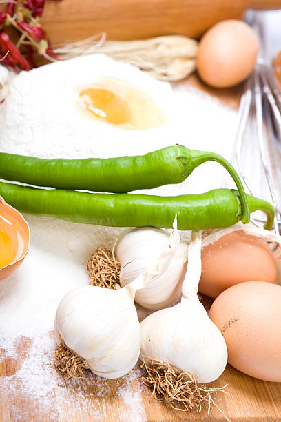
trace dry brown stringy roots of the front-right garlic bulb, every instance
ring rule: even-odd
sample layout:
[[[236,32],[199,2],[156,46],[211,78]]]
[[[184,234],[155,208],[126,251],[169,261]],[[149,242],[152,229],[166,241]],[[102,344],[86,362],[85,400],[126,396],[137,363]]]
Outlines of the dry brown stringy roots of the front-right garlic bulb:
[[[145,359],[147,356],[143,356]],[[147,358],[141,368],[147,372],[142,377],[143,384],[151,388],[152,396],[165,400],[175,410],[201,412],[202,403],[214,404],[214,395],[225,392],[227,385],[218,388],[198,384],[191,372],[176,372],[169,363]],[[208,412],[209,414],[209,412]]]

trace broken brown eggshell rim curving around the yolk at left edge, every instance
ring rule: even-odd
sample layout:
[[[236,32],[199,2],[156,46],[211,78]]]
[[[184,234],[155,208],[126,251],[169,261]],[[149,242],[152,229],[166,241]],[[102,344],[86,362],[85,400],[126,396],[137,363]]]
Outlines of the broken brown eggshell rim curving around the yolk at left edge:
[[[0,268],[0,280],[3,280],[17,270],[23,262],[23,259],[25,259],[29,249],[30,230],[28,223],[25,221],[20,212],[5,203],[2,197],[0,197],[0,216],[7,221],[10,221],[14,228],[17,229],[17,232],[19,232],[19,243],[16,258],[12,261],[12,263]]]

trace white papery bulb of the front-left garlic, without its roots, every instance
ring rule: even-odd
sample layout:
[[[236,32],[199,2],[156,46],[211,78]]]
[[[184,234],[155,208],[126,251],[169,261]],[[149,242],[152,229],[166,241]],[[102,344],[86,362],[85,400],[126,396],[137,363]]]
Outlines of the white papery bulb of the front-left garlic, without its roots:
[[[140,324],[131,286],[88,285],[68,293],[56,310],[56,341],[65,342],[94,374],[118,378],[138,361]]]

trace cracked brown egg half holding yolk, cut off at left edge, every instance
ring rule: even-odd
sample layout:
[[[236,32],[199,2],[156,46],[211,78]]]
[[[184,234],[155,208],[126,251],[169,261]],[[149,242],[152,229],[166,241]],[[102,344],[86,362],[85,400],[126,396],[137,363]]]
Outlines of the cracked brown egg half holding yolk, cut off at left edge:
[[[0,280],[19,268],[28,253],[29,242],[28,223],[0,197]]]

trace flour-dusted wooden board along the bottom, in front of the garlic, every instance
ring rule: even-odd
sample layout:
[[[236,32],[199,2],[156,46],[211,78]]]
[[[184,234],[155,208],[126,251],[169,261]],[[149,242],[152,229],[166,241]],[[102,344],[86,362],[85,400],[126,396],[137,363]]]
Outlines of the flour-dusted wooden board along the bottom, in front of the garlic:
[[[21,339],[19,343],[19,356],[16,360],[3,361],[0,365],[0,376],[9,376],[19,370],[25,355],[30,348],[30,341]],[[89,371],[90,372],[90,371]],[[140,370],[138,370],[140,372]],[[28,399],[25,393],[19,389],[17,394],[7,395],[0,392],[0,421],[17,422],[175,422],[175,421],[206,421],[223,422],[225,416],[212,408],[210,415],[207,408],[201,413],[176,411],[163,402],[155,401],[150,396],[149,390],[142,387],[137,377],[129,380],[129,394],[138,395],[138,401],[142,402],[142,410],[134,408],[138,401],[128,399],[125,401],[117,394],[117,391],[128,388],[127,381],[103,381],[97,376],[85,374],[85,388],[81,397],[81,383],[71,381],[67,387],[56,388],[56,403],[44,411],[36,406],[34,399]],[[92,386],[91,383],[92,382]],[[267,383],[227,366],[224,374],[216,381],[216,386],[228,384],[227,392],[218,396],[217,403],[222,412],[227,415],[231,422],[280,422],[281,421],[281,384]],[[64,391],[63,391],[64,390]],[[72,396],[70,402],[65,400],[67,394]],[[77,394],[76,400],[73,395]],[[88,397],[88,399],[87,399]],[[127,403],[126,403],[127,402]],[[86,404],[85,404],[86,403]],[[35,404],[35,406],[34,406]],[[140,419],[141,418],[141,419]]]

